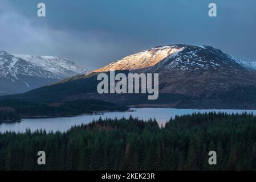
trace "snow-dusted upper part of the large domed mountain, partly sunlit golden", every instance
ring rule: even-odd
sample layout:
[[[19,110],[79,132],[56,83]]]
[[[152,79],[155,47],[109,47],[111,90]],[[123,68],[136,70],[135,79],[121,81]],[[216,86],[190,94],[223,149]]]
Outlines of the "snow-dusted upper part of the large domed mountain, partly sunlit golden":
[[[134,55],[124,57],[94,72],[113,70],[159,71],[160,69],[176,69],[180,71],[197,71],[209,69],[248,69],[256,71],[256,62],[238,60],[220,49],[211,46],[190,46],[176,44],[158,46]]]

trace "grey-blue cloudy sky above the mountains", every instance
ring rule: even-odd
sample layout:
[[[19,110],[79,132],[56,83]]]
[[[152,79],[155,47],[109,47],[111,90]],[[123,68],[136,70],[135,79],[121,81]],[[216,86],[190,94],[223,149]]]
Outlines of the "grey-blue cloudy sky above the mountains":
[[[46,4],[38,18],[37,4]],[[210,2],[216,18],[208,16]],[[0,0],[0,49],[96,69],[155,46],[209,45],[256,61],[255,0]]]

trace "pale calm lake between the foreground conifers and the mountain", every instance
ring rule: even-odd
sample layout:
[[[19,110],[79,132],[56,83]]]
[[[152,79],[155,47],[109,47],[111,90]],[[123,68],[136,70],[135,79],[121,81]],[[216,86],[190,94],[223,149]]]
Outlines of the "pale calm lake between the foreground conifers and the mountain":
[[[15,131],[24,132],[26,129],[35,131],[37,129],[45,129],[46,131],[67,131],[74,125],[80,125],[82,123],[90,123],[94,119],[101,118],[128,118],[137,117],[139,119],[156,118],[157,122],[164,124],[169,121],[171,117],[175,115],[192,114],[192,113],[207,113],[210,111],[222,111],[225,113],[253,113],[256,114],[256,110],[198,110],[198,109],[171,109],[171,108],[143,108],[135,109],[135,112],[109,112],[103,115],[81,115],[77,117],[68,118],[36,118],[36,119],[22,119],[21,122],[15,123],[0,123],[0,132]]]

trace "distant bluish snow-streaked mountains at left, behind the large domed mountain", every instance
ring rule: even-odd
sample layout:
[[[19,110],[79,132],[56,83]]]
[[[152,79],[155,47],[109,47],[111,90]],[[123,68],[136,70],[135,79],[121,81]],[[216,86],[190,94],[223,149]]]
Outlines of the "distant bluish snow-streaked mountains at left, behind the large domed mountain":
[[[0,95],[27,92],[87,72],[62,57],[11,55],[0,51]]]

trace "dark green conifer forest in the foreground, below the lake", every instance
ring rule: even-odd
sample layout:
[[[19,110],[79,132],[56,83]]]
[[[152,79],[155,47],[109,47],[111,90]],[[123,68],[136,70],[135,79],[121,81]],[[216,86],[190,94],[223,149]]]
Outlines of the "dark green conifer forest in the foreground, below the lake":
[[[46,165],[37,152],[46,152]],[[208,153],[216,151],[217,164]],[[22,157],[21,157],[22,156]],[[0,170],[255,170],[256,116],[99,119],[60,133],[0,134]]]

